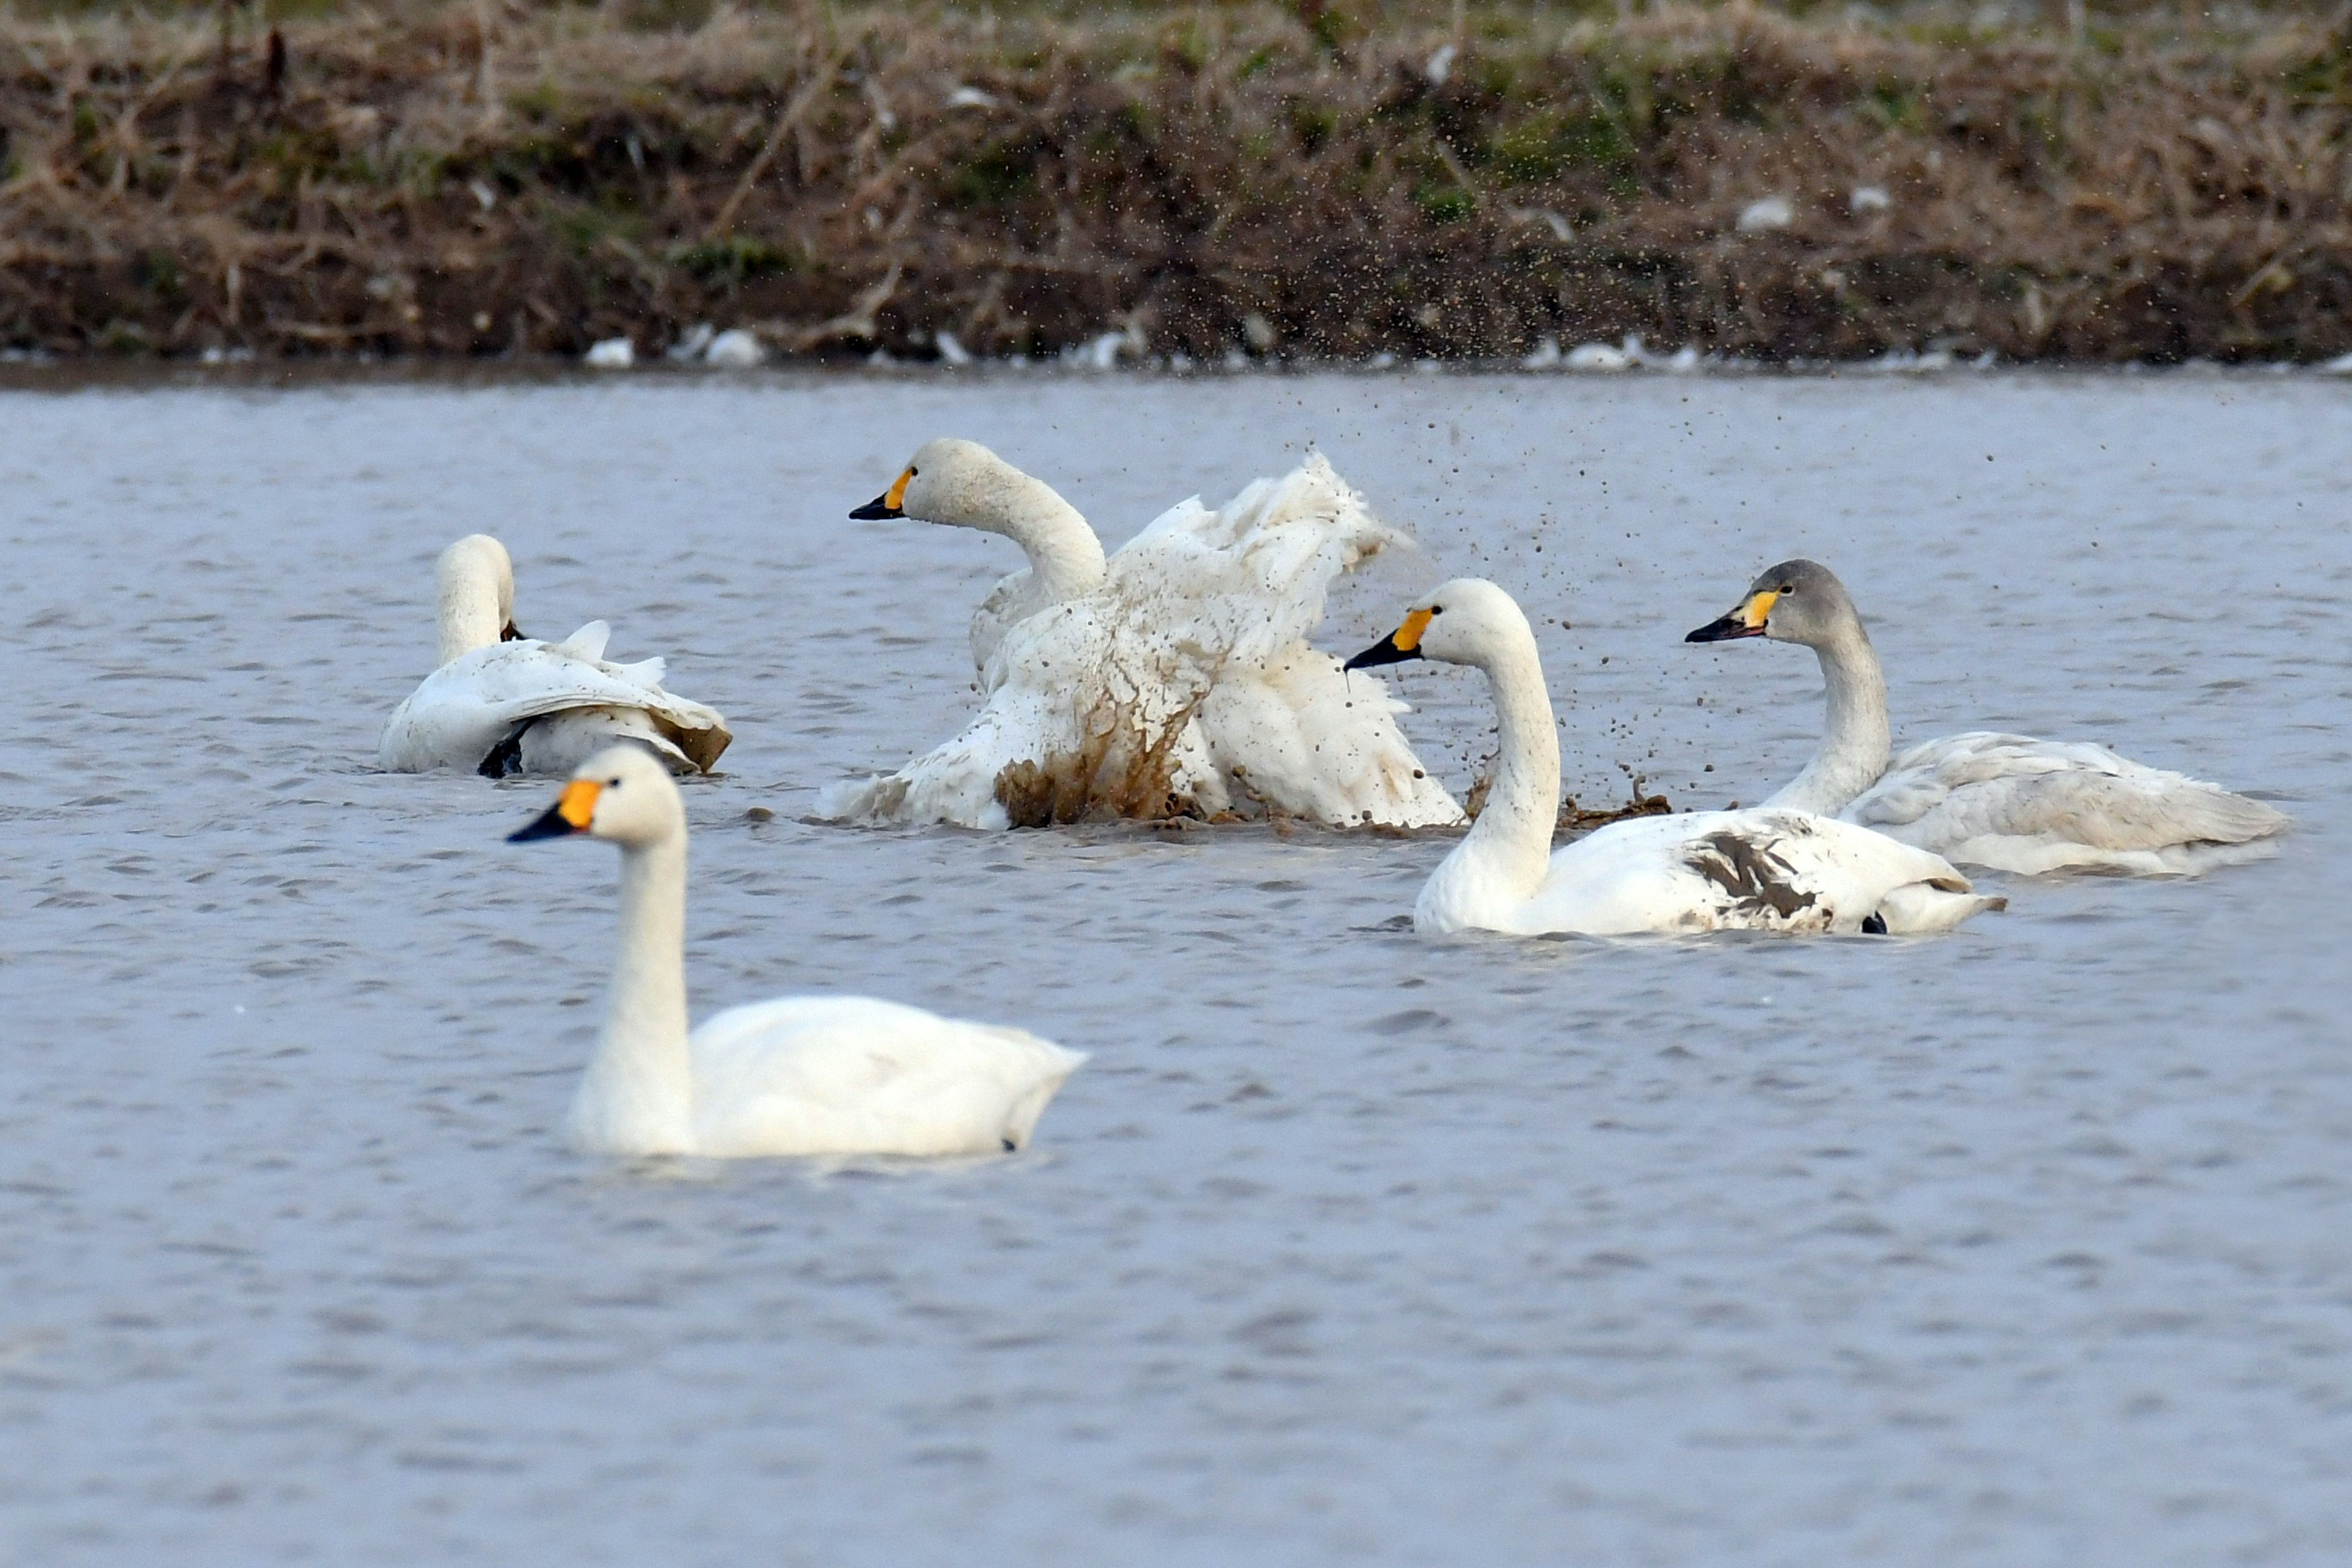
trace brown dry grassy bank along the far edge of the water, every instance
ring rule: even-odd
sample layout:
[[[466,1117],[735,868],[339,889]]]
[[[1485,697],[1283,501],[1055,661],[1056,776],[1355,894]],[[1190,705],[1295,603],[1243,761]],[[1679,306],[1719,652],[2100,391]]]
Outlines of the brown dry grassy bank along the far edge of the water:
[[[2340,19],[466,0],[285,16],[278,63],[230,21],[0,14],[0,346],[2352,350]]]

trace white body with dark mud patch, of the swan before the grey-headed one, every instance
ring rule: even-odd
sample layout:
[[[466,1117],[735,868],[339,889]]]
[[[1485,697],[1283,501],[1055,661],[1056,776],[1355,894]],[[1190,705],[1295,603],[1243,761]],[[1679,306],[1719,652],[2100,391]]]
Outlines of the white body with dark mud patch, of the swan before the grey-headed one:
[[[1900,893],[1900,896],[1898,896]],[[1552,853],[1510,929],[1940,931],[1999,900],[1947,860],[1806,811],[1693,811],[1611,823]]]

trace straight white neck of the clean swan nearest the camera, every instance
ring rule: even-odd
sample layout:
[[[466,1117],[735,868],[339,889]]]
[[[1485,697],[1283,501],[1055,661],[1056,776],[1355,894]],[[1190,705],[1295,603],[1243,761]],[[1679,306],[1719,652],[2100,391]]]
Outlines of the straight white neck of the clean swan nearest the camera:
[[[621,957],[604,1032],[572,1100],[572,1143],[600,1154],[687,1154],[687,835],[621,851]]]

